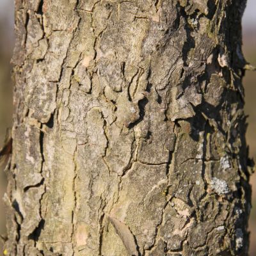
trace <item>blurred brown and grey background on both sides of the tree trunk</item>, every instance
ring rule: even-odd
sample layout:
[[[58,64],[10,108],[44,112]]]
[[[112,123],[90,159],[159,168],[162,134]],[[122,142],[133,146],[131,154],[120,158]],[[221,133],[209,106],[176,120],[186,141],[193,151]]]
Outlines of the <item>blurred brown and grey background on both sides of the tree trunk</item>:
[[[11,65],[14,44],[14,0],[0,0],[0,148],[3,146],[6,128],[12,126]],[[243,52],[246,60],[256,66],[256,1],[248,0],[243,17]],[[250,157],[256,159],[256,72],[248,71],[244,77],[245,112],[248,117],[247,143]],[[256,173],[251,177],[252,212],[250,216],[250,256],[256,255]],[[3,166],[0,166],[0,199],[6,189]],[[3,202],[0,200],[0,234],[5,233]],[[2,255],[0,239],[0,255]]]

